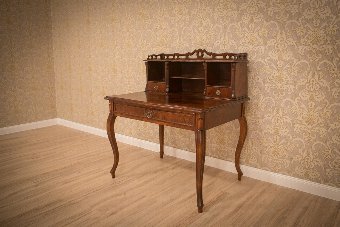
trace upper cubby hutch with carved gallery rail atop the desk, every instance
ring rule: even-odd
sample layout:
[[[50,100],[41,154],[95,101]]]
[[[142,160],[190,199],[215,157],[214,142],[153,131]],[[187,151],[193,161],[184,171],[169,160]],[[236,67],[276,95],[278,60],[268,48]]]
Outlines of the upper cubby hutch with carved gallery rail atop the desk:
[[[209,98],[247,98],[247,54],[153,54],[145,60],[147,92],[198,93]]]

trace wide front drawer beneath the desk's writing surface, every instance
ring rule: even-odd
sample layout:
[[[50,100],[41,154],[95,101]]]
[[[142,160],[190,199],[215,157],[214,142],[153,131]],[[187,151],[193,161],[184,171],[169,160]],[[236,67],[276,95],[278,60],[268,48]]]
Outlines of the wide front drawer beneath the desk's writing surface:
[[[154,123],[165,123],[166,125],[184,126],[185,128],[195,126],[195,114],[159,110],[152,107],[141,107],[127,104],[115,103],[114,112],[118,116],[130,117],[137,120]]]

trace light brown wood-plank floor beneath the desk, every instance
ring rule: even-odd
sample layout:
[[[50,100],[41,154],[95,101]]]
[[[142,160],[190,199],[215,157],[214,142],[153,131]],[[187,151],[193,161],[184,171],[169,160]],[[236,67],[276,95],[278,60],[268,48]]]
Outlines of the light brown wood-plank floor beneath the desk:
[[[194,141],[193,141],[194,142]],[[340,226],[340,202],[61,126],[0,136],[0,226]]]

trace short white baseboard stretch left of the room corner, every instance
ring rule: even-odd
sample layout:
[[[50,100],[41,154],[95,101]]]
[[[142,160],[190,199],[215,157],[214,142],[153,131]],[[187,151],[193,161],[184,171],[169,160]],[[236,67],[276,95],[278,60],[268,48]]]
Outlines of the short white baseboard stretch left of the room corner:
[[[15,132],[22,132],[22,131],[27,131],[27,130],[37,129],[37,128],[44,128],[44,127],[48,127],[48,126],[52,126],[56,124],[57,124],[57,118],[43,120],[43,121],[36,121],[36,122],[31,122],[31,123],[26,123],[26,124],[21,124],[21,125],[13,125],[9,127],[0,128],[0,135],[6,135],[6,134],[15,133]]]

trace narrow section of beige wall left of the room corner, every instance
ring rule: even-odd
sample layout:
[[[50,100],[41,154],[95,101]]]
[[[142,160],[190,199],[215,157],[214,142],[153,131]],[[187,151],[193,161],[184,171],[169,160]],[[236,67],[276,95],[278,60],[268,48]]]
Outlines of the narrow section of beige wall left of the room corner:
[[[49,1],[0,1],[0,128],[56,117]]]

